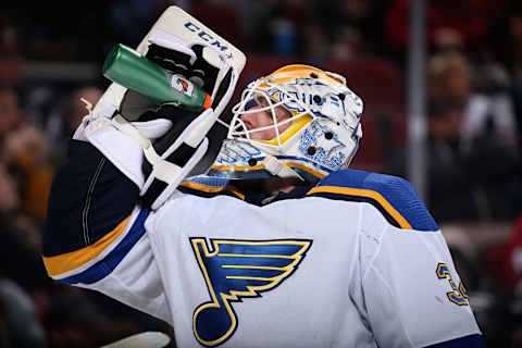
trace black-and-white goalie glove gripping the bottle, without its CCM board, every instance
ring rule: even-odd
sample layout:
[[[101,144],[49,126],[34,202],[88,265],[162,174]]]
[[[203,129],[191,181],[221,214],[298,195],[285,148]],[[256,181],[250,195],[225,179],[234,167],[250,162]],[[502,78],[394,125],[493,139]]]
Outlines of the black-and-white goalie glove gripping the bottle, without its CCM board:
[[[74,138],[98,148],[139,187],[144,203],[158,209],[206,154],[206,135],[232,98],[239,72],[210,46],[172,38],[149,41],[146,57],[167,73],[200,85],[211,96],[211,107],[198,112],[154,105],[130,90],[120,94],[119,100],[121,87],[113,84]],[[134,116],[139,109],[139,116]]]

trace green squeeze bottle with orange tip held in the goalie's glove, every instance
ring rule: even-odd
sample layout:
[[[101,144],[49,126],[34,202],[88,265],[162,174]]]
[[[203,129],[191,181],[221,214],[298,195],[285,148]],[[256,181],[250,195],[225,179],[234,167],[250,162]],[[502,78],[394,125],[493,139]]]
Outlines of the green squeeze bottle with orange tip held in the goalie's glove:
[[[125,45],[115,45],[105,58],[102,75],[158,103],[188,110],[211,105],[210,96],[182,75],[169,75],[158,64]]]

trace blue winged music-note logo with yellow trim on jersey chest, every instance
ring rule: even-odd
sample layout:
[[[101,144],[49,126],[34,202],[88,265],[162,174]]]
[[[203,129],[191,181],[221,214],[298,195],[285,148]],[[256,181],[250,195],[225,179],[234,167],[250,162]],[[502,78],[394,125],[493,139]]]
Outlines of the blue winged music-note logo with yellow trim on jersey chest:
[[[217,346],[234,334],[238,319],[232,302],[260,297],[290,276],[312,241],[303,239],[227,240],[190,238],[210,301],[196,308],[192,330],[204,346]]]

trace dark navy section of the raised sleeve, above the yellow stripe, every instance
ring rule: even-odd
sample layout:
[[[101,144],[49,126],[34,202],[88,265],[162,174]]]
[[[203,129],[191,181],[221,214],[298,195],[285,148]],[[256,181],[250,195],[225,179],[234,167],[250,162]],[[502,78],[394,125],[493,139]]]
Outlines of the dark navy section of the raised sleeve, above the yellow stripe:
[[[96,244],[130,215],[138,198],[139,188],[98,149],[71,139],[49,197],[45,260]]]

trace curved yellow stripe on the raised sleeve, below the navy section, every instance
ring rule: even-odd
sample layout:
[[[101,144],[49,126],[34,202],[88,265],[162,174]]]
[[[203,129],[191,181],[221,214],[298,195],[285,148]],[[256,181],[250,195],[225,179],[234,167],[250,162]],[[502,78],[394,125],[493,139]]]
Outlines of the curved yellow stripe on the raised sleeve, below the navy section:
[[[130,215],[123,220],[113,231],[90,246],[54,257],[42,257],[47,273],[50,276],[57,276],[77,269],[86,262],[97,258],[122,234],[129,219]]]

